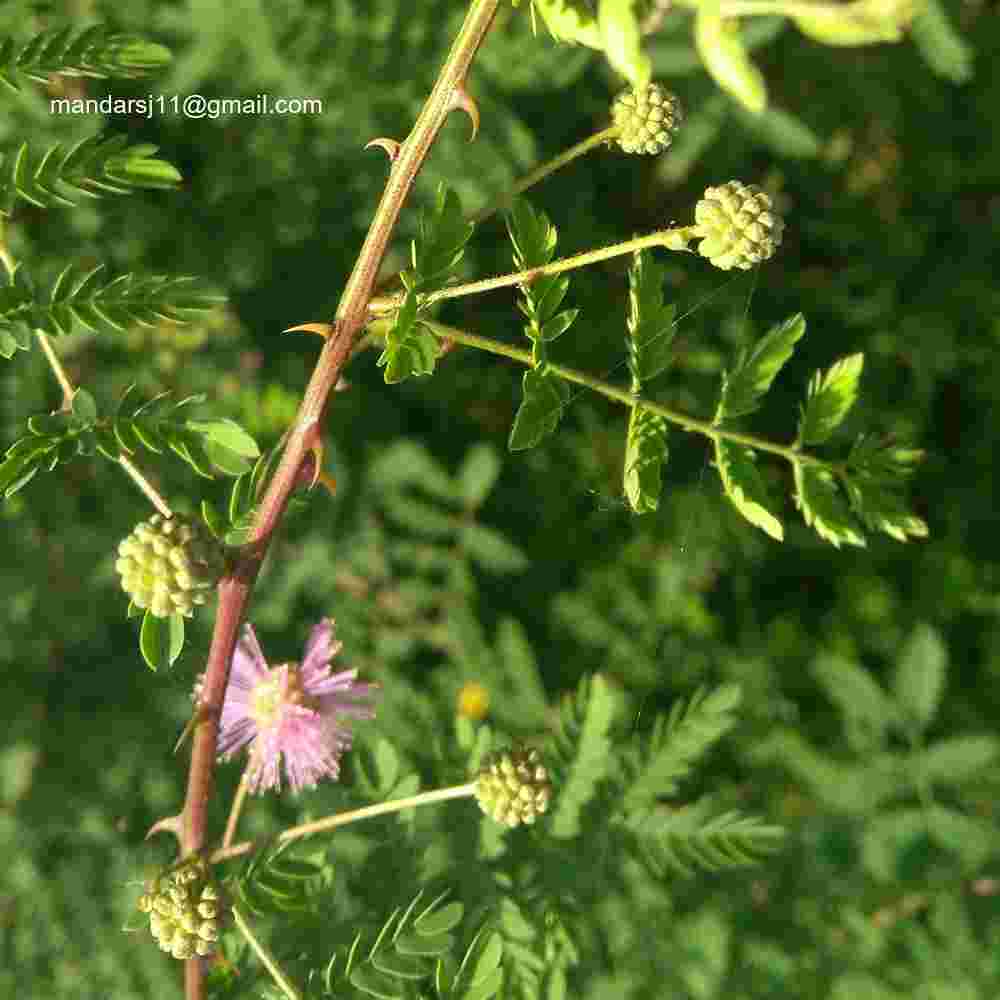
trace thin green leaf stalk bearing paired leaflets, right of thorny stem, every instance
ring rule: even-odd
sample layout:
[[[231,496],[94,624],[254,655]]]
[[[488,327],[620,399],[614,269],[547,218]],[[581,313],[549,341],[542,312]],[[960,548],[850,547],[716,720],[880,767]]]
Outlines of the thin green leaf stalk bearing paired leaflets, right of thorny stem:
[[[488,351],[490,354],[499,354],[502,357],[510,358],[512,361],[517,361],[528,368],[534,367],[530,351],[522,350],[519,347],[511,347],[510,344],[504,344],[499,340],[492,340],[489,337],[480,337],[478,334],[466,333],[464,330],[445,326],[443,323],[434,323],[429,320],[421,320],[421,323],[438,337],[448,337],[456,343],[464,344],[466,347],[477,347],[481,351]],[[773,455],[780,455],[789,462],[836,469],[833,463],[824,462],[822,459],[816,458],[815,455],[808,455],[797,448],[776,444],[773,441],[768,441],[766,438],[757,437],[756,434],[744,434],[742,431],[730,430],[727,427],[718,427],[710,420],[699,420],[697,417],[690,417],[686,413],[672,410],[669,406],[664,406],[662,403],[637,396],[618,386],[611,385],[609,382],[594,378],[586,372],[577,371],[575,368],[567,368],[565,365],[557,365],[549,362],[548,369],[560,378],[564,378],[567,382],[575,382],[577,385],[586,386],[588,389],[592,389],[594,392],[600,393],[600,395],[608,399],[613,399],[617,403],[623,403],[630,409],[633,406],[642,406],[644,409],[652,410],[654,413],[660,414],[684,430],[694,434],[703,434],[713,441],[721,438],[723,441],[733,441],[737,444],[746,445],[748,448],[753,448],[756,451],[766,451]]]

